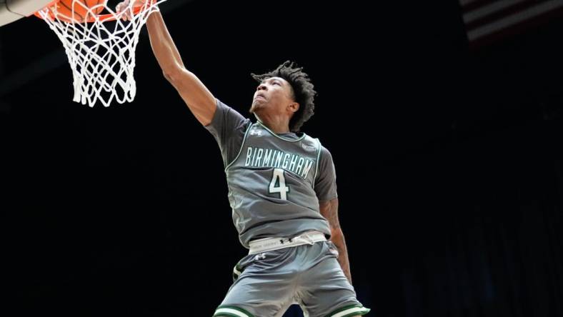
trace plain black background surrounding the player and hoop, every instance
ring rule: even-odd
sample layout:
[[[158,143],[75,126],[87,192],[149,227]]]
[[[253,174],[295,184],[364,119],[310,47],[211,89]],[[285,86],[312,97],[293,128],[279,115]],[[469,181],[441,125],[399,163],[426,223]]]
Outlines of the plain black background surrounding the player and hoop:
[[[242,114],[250,72],[311,76],[369,316],[563,316],[561,19],[474,48],[457,1],[174,1],[186,67]],[[146,32],[136,54],[136,100],[91,109],[43,21],[0,28],[2,315],[211,316],[226,294],[245,249],[218,146]]]

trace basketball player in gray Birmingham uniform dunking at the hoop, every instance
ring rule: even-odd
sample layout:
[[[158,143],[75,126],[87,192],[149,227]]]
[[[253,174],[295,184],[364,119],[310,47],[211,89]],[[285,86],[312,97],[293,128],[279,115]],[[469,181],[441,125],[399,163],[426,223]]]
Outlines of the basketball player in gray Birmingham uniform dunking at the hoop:
[[[219,144],[234,225],[249,248],[214,316],[282,316],[293,303],[312,317],[368,313],[352,287],[332,156],[299,133],[314,109],[307,74],[289,61],[252,74],[259,82],[252,123],[185,68],[159,12],[146,26],[164,76]]]

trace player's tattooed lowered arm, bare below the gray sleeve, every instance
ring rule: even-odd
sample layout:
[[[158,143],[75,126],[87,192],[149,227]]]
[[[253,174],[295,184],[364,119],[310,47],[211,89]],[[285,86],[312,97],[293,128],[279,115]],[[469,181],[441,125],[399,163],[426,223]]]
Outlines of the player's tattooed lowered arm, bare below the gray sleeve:
[[[338,262],[342,267],[342,271],[344,271],[344,275],[348,278],[350,284],[352,284],[346,240],[344,239],[344,233],[342,233],[340,221],[338,220],[338,198],[334,198],[329,201],[321,201],[319,202],[319,206],[322,216],[329,222],[331,232],[330,241],[332,241],[334,246],[338,249]]]

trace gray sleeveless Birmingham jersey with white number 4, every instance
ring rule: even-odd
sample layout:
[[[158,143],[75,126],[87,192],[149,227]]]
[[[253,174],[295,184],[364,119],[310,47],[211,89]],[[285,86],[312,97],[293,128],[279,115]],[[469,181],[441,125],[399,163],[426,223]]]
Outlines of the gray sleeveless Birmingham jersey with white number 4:
[[[226,166],[229,203],[243,246],[266,237],[309,230],[330,236],[319,212],[314,181],[322,146],[303,134],[286,139],[260,122],[249,125],[238,156]]]

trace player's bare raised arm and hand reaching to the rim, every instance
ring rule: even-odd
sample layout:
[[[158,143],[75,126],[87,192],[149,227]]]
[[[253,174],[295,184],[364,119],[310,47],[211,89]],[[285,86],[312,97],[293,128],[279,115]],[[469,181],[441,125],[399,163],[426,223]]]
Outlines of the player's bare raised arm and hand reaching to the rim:
[[[124,10],[129,5],[129,1],[118,4],[116,11]],[[134,6],[140,6],[148,0],[134,1],[136,1]],[[154,12],[149,16],[146,21],[146,29],[149,31],[151,47],[164,77],[178,91],[181,99],[184,100],[196,119],[204,126],[209,125],[216,110],[215,98],[206,86],[184,66],[160,12]]]

